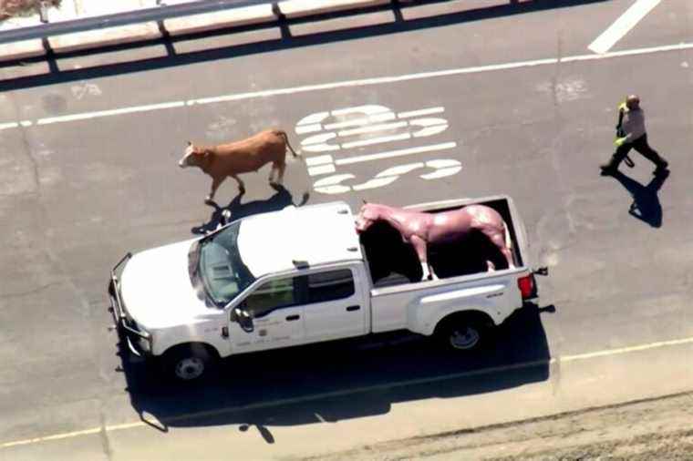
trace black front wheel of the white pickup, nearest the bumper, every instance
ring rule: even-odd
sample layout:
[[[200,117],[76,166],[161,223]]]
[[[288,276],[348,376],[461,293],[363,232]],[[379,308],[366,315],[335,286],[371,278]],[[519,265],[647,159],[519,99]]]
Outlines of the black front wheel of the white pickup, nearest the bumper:
[[[186,344],[165,353],[162,365],[172,382],[196,384],[212,377],[217,368],[217,357],[204,344]]]

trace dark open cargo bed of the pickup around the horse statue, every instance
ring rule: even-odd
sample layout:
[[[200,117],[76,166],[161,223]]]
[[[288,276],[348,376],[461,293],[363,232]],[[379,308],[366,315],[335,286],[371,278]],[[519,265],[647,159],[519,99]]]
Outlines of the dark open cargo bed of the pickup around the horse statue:
[[[471,204],[482,204],[501,213],[511,234],[513,258],[522,266],[522,243],[519,241],[509,198],[498,196],[481,200],[456,200],[457,203],[432,207],[412,207],[415,210],[437,213],[456,210]],[[413,247],[402,241],[399,232],[386,222],[378,222],[360,235],[374,288],[394,286],[421,280],[419,258]],[[453,243],[429,246],[429,263],[440,279],[460,277],[488,271],[486,261],[492,261],[496,271],[507,269],[502,253],[481,233]]]

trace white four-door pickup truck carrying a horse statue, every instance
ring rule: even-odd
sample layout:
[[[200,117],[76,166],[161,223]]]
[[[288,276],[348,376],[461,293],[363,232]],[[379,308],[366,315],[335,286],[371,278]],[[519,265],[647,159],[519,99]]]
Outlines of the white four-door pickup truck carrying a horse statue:
[[[201,238],[128,253],[111,271],[110,311],[129,349],[171,377],[199,380],[216,360],[306,343],[413,332],[460,351],[537,296],[522,221],[510,198],[408,207],[435,213],[471,203],[498,210],[516,267],[483,241],[429,249],[440,277],[421,281],[413,249],[392,228],[357,234],[345,202],[235,220]],[[436,251],[438,250],[438,251]],[[503,269],[503,267],[505,269]]]

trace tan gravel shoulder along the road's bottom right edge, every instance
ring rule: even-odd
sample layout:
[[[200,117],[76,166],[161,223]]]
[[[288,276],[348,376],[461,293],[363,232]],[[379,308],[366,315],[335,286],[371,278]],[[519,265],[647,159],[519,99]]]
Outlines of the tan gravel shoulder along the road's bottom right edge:
[[[529,421],[396,440],[321,460],[684,460],[693,456],[693,393]]]

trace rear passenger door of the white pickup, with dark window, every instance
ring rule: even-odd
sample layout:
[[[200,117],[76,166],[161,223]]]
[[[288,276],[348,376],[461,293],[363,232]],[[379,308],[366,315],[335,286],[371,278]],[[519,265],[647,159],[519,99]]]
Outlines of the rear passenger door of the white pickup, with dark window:
[[[305,278],[305,336],[309,343],[368,333],[369,312],[351,268]]]

